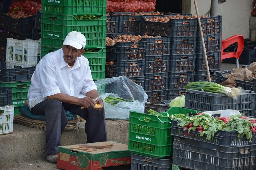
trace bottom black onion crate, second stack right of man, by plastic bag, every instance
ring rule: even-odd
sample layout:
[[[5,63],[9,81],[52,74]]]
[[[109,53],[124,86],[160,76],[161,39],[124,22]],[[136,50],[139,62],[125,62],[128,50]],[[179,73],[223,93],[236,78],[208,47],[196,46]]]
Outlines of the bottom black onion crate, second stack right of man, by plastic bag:
[[[167,92],[168,90],[146,91],[146,94],[149,96],[147,102],[161,104],[161,101],[167,100]]]

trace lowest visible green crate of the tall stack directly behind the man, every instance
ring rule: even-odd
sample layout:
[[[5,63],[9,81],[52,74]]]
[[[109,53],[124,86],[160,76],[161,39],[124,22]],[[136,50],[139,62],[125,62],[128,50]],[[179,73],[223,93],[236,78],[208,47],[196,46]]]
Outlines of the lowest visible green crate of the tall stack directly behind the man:
[[[59,48],[41,47],[41,57]],[[83,56],[88,59],[93,80],[105,78],[106,48],[96,48],[98,52],[85,52]]]

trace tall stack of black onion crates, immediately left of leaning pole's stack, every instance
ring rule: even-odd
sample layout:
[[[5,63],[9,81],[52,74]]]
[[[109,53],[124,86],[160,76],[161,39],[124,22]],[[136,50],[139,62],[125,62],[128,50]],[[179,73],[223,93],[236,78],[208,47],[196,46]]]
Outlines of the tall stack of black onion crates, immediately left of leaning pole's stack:
[[[167,18],[140,18],[139,33],[171,37],[168,87],[166,88],[168,100],[185,94],[184,86],[194,80],[197,20],[192,19],[191,14],[181,15],[183,14],[171,14],[175,19],[171,19],[168,15],[166,15]]]

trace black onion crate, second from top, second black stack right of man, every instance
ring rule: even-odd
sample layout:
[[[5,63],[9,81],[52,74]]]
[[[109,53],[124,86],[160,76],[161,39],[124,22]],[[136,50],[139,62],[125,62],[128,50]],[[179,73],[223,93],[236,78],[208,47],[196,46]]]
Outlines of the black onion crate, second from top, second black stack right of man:
[[[146,56],[145,74],[168,72],[168,59],[169,55]]]

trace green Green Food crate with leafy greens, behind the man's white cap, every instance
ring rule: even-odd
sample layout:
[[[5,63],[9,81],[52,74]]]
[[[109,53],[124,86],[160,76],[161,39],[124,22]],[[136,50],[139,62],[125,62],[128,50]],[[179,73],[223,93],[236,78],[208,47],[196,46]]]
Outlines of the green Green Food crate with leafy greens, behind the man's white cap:
[[[53,21],[52,18],[58,21]],[[72,15],[42,13],[41,46],[61,48],[67,34],[78,31],[86,38],[86,48],[106,47],[106,24],[106,15],[95,20],[77,20]]]

